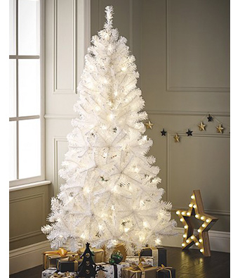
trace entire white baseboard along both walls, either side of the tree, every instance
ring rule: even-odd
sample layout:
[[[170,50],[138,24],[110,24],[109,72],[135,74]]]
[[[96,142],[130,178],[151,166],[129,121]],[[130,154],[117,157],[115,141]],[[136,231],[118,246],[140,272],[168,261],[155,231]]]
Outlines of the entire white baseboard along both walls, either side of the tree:
[[[183,228],[175,228],[177,235],[163,239],[163,246],[181,247]],[[230,252],[230,233],[209,231],[209,240],[212,251]],[[192,246],[191,248],[194,248]],[[45,251],[51,250],[48,241],[42,241],[9,252],[9,274],[27,270],[43,263]]]

